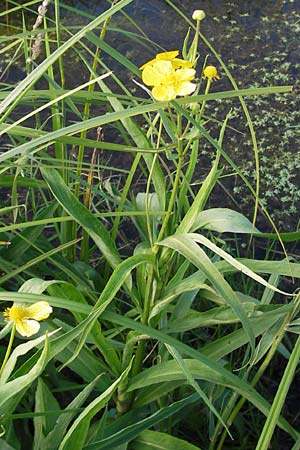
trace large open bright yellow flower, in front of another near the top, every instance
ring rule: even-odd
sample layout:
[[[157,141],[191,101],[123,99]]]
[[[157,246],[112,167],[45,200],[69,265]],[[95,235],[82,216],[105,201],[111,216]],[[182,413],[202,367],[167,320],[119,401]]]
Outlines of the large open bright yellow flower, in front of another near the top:
[[[191,83],[196,71],[190,68],[175,69],[171,61],[155,60],[146,65],[142,73],[143,82],[147,86],[154,86],[152,95],[155,100],[170,101],[178,95],[189,95],[196,89]]]

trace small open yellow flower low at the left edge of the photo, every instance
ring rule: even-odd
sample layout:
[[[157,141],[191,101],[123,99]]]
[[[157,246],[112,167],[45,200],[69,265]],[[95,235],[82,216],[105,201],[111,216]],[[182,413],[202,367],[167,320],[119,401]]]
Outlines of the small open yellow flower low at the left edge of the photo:
[[[30,306],[13,304],[6,308],[3,315],[6,322],[13,321],[21,336],[32,336],[40,329],[40,320],[47,319],[52,313],[48,302],[37,302]]]

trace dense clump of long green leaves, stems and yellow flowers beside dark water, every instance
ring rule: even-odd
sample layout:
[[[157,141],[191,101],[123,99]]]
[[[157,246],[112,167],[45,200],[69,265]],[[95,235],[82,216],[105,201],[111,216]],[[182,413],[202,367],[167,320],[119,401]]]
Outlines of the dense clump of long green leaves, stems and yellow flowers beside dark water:
[[[153,51],[139,68],[107,42],[111,19],[132,0],[69,28],[65,6],[44,0],[28,29],[28,10],[40,2],[29,3],[9,0],[1,13],[9,24],[22,12],[22,30],[2,44],[14,52],[9,64],[22,61],[26,71],[16,85],[0,85],[0,183],[8,192],[0,210],[1,448],[220,450],[232,438],[263,450],[276,427],[297,446],[281,410],[300,355],[299,295],[295,284],[279,283],[298,279],[300,266],[286,254],[249,255],[253,236],[285,252],[299,232],[255,227],[259,207],[269,216],[244,102],[291,88],[238,89],[200,32],[203,11],[187,19],[181,55]],[[128,37],[151,53],[154,44],[138,32]],[[231,90],[218,91],[207,47]],[[68,87],[74,55],[88,81]],[[254,187],[224,148],[230,111],[218,137],[210,133],[213,102],[227,98],[247,120]],[[214,156],[200,179],[204,143]],[[252,221],[209,207],[223,159],[253,198]],[[231,254],[228,236],[237,247],[239,236],[247,240],[244,257]],[[274,399],[265,398],[259,381],[278,353],[286,368]],[[257,411],[259,434],[245,433]]]

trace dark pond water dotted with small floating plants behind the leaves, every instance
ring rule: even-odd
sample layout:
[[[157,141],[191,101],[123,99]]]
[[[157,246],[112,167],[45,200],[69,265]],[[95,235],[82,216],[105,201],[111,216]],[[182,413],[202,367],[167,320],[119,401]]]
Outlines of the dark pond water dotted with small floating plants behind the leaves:
[[[86,13],[86,17],[74,16],[62,10],[64,25],[85,23],[88,16],[96,16],[103,10],[104,2],[96,0],[76,0],[65,2]],[[195,9],[203,9],[206,19],[201,23],[201,31],[214,45],[239,87],[293,85],[297,87],[300,75],[299,31],[300,2],[282,1],[215,1],[177,0],[173,4],[187,17]],[[49,8],[49,13],[51,8]],[[187,24],[164,0],[136,0],[125,12],[153,41],[148,49],[139,43],[133,44],[126,35],[110,30],[107,39],[120,52],[133,59],[137,65],[153,57],[157,51],[174,50],[182,47]],[[18,20],[18,18],[16,18]],[[111,27],[121,27],[139,34],[135,26],[118,14]],[[156,45],[154,44],[156,43]],[[210,64],[217,64],[209,49],[201,44],[201,61],[208,56]],[[213,89],[231,89],[222,69],[221,80]],[[70,61],[70,82],[79,84],[80,68]],[[9,80],[18,79],[16,70],[11,70]],[[125,74],[126,76],[126,74]],[[22,76],[21,76],[22,77]],[[299,153],[299,95],[297,89],[288,95],[265,96],[247,99],[256,128],[261,158],[261,196],[272,211],[282,231],[295,230],[299,221],[300,205],[300,153]],[[242,168],[243,173],[254,184],[254,157],[245,119],[238,101],[215,103],[213,115],[224,119],[232,108],[231,125],[242,134],[229,133],[225,149]],[[210,111],[211,114],[211,111]],[[213,133],[213,130],[212,130]],[[203,149],[209,159],[209,148]],[[230,181],[228,181],[228,179]],[[224,178],[224,189],[228,186],[234,192],[232,201],[242,209],[248,208],[248,196],[238,181],[238,177]]]

